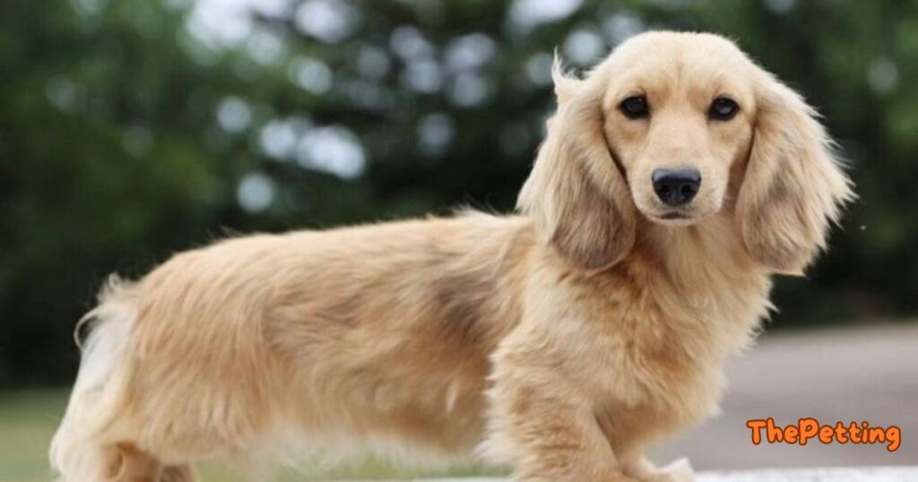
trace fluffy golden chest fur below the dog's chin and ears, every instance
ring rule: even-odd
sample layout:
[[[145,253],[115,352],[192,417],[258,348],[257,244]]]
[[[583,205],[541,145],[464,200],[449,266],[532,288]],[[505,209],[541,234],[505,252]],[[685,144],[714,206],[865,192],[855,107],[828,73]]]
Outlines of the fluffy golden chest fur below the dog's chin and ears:
[[[727,356],[751,342],[770,307],[770,281],[738,241],[681,236],[639,241],[609,272],[566,280],[590,341],[579,348],[584,383],[616,419],[668,425],[715,412]]]

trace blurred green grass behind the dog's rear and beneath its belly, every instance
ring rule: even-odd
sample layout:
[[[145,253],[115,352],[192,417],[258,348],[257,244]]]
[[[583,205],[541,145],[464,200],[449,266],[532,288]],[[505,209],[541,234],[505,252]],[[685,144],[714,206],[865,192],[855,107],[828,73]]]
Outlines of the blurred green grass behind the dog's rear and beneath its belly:
[[[60,389],[0,391],[0,482],[48,482],[48,444],[63,409],[67,392]],[[229,465],[217,461],[200,467],[204,482],[243,480]],[[397,467],[375,459],[362,464],[323,470],[305,467],[300,472],[278,469],[276,482],[334,479],[385,479],[411,476],[475,476],[486,474],[474,465],[449,470],[423,471]],[[493,473],[493,472],[491,472]]]

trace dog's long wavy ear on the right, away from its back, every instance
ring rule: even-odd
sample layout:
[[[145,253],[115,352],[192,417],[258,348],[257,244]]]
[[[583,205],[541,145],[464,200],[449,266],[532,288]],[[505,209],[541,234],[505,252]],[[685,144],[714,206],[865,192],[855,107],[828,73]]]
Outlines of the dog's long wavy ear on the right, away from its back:
[[[835,157],[832,140],[800,95],[762,72],[756,104],[737,221],[756,263],[802,275],[825,247],[841,205],[854,198],[852,184]]]

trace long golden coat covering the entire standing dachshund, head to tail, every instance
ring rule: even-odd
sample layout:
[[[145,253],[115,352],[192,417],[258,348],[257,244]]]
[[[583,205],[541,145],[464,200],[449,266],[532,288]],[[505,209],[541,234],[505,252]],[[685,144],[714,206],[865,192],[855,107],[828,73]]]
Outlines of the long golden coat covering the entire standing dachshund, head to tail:
[[[690,479],[644,447],[717,409],[769,275],[811,263],[850,183],[812,109],[720,37],[644,34],[555,84],[521,216],[242,237],[108,286],[62,479],[193,480],[294,440]],[[674,168],[701,179],[678,207],[652,182]]]

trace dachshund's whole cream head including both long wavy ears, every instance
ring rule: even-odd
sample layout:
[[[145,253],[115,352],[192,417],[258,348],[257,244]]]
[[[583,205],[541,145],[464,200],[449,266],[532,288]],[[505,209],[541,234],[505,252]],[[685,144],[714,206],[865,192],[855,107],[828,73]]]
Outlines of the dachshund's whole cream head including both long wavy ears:
[[[756,263],[799,274],[853,196],[812,108],[722,37],[645,33],[584,79],[555,62],[554,83],[519,207],[569,262],[620,261],[641,218],[730,212]]]

